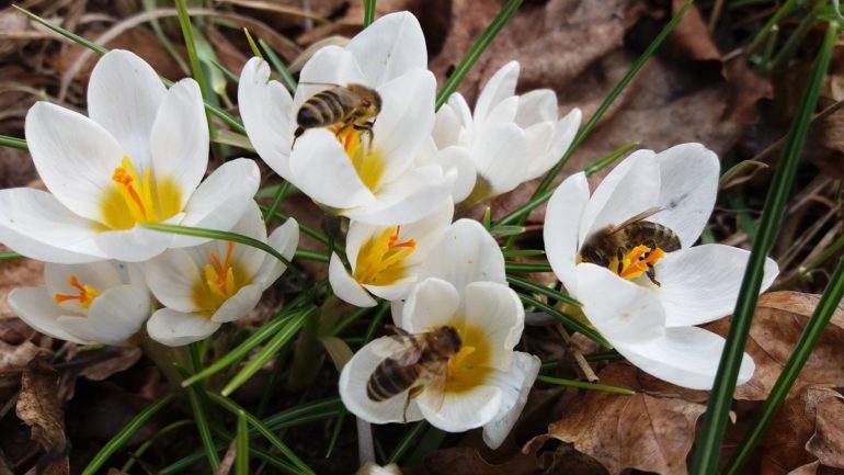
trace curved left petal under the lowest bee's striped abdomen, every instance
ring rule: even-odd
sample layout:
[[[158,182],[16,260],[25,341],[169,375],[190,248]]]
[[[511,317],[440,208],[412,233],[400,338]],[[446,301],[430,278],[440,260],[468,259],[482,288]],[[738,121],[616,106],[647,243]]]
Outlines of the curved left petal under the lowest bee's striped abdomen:
[[[384,342],[394,341],[391,337],[381,337],[358,350],[340,373],[340,397],[346,409],[372,423],[401,422],[404,420],[404,391],[386,400],[375,402],[366,395],[366,384],[375,369],[384,361],[383,354],[376,354],[374,348]],[[411,400],[408,407],[408,421],[419,420],[422,414],[417,403]]]

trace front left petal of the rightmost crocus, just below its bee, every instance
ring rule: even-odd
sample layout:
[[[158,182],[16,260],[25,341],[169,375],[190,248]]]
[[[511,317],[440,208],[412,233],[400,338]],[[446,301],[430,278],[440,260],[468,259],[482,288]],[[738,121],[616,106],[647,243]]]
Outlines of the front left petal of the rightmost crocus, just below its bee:
[[[611,343],[643,343],[665,335],[665,313],[650,291],[595,264],[578,265],[578,299]]]

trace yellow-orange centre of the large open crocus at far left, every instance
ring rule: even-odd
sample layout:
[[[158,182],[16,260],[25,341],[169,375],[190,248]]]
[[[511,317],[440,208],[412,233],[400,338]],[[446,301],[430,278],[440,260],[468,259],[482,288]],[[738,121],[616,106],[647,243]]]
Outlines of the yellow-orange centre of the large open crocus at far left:
[[[159,223],[179,212],[181,193],[172,180],[156,183],[151,170],[141,173],[128,157],[114,169],[115,186],[102,201],[103,222],[111,229],[129,229],[137,223]]]

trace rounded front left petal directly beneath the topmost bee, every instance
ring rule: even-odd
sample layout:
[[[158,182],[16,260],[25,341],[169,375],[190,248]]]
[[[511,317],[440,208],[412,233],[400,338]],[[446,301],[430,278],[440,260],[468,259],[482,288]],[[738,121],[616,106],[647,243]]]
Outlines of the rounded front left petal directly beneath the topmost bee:
[[[343,147],[329,131],[306,131],[290,156],[293,183],[317,203],[335,208],[367,206],[375,196],[364,185]]]

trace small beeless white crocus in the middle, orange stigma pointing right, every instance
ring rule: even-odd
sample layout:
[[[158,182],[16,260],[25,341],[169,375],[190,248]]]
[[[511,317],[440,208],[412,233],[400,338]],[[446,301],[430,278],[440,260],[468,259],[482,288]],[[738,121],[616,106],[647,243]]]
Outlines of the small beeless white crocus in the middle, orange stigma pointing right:
[[[452,224],[454,204],[446,200],[437,210],[413,223],[373,226],[352,222],[346,235],[350,273],[337,253],[331,256],[329,281],[334,294],[360,307],[376,305],[376,295],[388,301],[404,298],[431,247]]]

